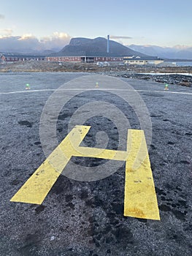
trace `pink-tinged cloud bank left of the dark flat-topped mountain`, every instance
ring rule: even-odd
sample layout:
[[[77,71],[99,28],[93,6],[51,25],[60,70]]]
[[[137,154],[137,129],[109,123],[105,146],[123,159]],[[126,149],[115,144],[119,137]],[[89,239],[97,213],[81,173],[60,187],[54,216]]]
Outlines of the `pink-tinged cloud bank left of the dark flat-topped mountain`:
[[[71,37],[69,34],[62,32],[55,32],[53,35],[48,37],[42,37],[38,39],[32,34],[23,34],[23,36],[13,37],[12,31],[4,29],[4,33],[7,35],[0,37],[0,51],[9,52],[31,52],[31,51],[42,51],[42,50],[60,50],[65,45],[69,44]]]

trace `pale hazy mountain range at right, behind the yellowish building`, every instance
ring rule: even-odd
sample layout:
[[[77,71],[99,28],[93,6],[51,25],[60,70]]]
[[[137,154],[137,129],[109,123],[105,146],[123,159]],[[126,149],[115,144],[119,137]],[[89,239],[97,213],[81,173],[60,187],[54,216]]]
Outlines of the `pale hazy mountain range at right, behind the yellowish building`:
[[[132,50],[141,53],[158,56],[164,59],[192,59],[192,47],[180,46],[161,47],[157,45],[127,45]]]

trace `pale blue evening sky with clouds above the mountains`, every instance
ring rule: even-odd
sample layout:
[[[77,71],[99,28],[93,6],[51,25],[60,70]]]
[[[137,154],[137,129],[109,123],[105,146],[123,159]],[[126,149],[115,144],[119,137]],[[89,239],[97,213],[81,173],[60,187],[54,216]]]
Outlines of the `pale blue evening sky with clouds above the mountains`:
[[[192,0],[0,0],[0,50],[63,48],[72,37],[192,47]]]

